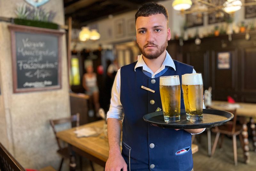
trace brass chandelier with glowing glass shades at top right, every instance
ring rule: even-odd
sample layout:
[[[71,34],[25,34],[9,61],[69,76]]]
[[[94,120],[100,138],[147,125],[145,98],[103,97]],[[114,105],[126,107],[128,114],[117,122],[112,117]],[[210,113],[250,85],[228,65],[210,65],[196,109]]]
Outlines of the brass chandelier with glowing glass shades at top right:
[[[227,0],[221,5],[216,5],[213,3],[213,1],[216,2],[216,0],[194,0],[193,3],[199,5],[198,8],[191,9],[191,0],[174,0],[172,3],[172,7],[174,10],[180,11],[181,14],[214,11],[224,11],[228,14],[234,14],[234,12],[240,10],[242,6],[256,5],[256,0],[254,0],[255,2],[251,3],[242,3],[241,0]]]

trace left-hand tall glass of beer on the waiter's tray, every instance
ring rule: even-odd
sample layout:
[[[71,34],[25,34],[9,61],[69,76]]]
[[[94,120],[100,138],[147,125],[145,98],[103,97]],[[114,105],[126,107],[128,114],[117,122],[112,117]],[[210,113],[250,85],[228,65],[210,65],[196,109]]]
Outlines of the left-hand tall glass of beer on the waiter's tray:
[[[160,96],[165,122],[180,121],[180,78],[179,75],[160,77]]]

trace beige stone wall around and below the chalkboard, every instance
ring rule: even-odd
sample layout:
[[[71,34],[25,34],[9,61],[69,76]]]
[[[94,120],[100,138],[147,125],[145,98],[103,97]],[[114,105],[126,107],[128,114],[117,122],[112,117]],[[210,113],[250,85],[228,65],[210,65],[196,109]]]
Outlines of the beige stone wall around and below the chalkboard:
[[[17,3],[0,0],[0,16],[16,17]],[[53,22],[64,25],[63,0],[50,0],[42,6],[57,13]],[[59,166],[60,156],[49,119],[70,115],[66,38],[62,36],[62,88],[28,93],[13,93],[11,39],[8,25],[0,22],[0,142],[25,168]]]

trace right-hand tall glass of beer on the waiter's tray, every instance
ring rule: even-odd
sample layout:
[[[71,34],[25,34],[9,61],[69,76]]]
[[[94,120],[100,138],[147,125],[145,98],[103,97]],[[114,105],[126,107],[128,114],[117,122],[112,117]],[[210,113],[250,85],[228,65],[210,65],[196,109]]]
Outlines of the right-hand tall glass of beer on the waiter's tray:
[[[184,74],[182,90],[187,120],[203,119],[203,80],[201,74]]]

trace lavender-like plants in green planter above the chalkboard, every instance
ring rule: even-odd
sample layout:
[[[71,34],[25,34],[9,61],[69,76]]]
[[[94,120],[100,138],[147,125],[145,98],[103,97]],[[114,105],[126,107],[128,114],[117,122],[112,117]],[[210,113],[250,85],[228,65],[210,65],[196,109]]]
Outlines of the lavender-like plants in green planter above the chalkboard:
[[[17,18],[14,18],[14,23],[18,25],[28,25],[34,27],[58,29],[56,23],[52,23],[56,13],[46,12],[43,8],[30,7],[26,4],[18,4],[15,11]]]

